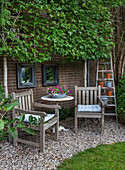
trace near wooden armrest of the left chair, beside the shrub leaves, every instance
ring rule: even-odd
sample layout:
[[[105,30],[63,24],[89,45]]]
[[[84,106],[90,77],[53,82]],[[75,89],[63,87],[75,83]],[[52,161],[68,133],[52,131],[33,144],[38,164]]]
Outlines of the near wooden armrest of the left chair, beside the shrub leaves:
[[[40,115],[42,117],[47,115],[45,112],[28,111],[28,110],[24,110],[24,109],[15,109],[15,112],[25,113],[25,114],[32,114],[32,115]]]

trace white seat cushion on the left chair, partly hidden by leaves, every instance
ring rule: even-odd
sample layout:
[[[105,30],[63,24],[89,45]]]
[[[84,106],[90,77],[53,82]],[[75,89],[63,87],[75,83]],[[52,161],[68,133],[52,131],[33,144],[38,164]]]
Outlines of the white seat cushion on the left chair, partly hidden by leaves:
[[[38,116],[38,115],[25,114],[24,122],[29,122],[29,116],[35,117],[37,119],[37,121],[40,118],[40,116]],[[54,117],[54,114],[47,114],[47,116],[45,116],[45,122],[52,119],[53,117]],[[20,118],[20,116],[18,118]]]

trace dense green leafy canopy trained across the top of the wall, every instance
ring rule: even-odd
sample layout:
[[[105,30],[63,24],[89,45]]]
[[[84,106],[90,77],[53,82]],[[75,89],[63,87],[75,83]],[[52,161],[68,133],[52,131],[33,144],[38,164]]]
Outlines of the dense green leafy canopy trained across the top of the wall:
[[[108,58],[113,46],[111,7],[123,0],[34,0],[1,3],[0,54],[43,62]]]

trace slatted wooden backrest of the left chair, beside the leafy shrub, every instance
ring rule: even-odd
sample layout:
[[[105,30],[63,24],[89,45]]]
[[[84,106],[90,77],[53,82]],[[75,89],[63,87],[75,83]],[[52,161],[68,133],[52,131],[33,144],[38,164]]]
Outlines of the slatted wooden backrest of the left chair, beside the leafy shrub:
[[[12,93],[13,100],[18,100],[19,105],[15,108],[33,111],[32,103],[34,103],[33,99],[33,90],[30,89],[26,92],[20,92],[20,93]]]

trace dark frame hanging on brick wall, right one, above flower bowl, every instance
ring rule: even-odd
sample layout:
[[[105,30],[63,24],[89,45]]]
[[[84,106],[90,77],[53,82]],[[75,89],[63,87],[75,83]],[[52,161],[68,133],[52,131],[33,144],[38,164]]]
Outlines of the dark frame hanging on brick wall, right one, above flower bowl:
[[[47,69],[53,68],[53,81],[47,81]],[[55,86],[59,84],[59,66],[58,64],[44,65],[42,64],[42,85]]]

